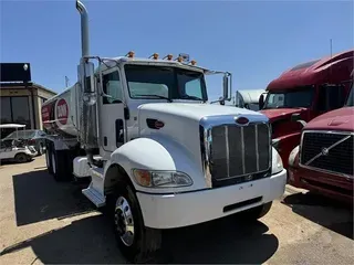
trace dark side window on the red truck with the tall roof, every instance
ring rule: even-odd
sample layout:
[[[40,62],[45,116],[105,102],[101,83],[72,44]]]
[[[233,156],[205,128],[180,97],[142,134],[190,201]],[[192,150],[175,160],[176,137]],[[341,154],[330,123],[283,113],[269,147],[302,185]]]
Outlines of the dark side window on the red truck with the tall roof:
[[[319,110],[327,112],[343,107],[344,105],[343,86],[321,86],[319,94]]]

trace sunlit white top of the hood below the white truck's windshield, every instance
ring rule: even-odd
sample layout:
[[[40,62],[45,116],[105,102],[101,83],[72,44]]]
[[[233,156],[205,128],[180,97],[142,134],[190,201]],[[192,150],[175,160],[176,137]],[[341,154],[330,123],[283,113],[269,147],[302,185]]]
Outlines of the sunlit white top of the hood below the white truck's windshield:
[[[188,119],[200,120],[204,117],[220,115],[252,115],[263,116],[262,114],[247,108],[233,106],[221,106],[212,104],[188,104],[188,103],[149,103],[138,107],[140,110],[159,113],[163,115],[173,115]]]

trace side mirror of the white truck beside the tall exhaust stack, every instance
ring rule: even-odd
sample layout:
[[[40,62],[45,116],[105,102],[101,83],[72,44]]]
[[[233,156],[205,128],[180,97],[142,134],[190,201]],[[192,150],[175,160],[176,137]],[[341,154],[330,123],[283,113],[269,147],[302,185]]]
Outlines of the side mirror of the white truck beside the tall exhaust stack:
[[[77,67],[79,82],[83,92],[83,100],[87,105],[96,103],[96,87],[95,87],[95,73],[94,64],[92,62],[81,62]]]

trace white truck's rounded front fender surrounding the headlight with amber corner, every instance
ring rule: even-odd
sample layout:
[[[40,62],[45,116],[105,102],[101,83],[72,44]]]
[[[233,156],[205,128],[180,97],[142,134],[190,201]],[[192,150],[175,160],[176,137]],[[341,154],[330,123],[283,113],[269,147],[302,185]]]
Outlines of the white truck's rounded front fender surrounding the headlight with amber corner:
[[[128,174],[135,190],[149,193],[175,193],[207,189],[201,167],[201,158],[194,158],[186,148],[162,135],[150,135],[131,140],[116,149],[105,167],[117,165]],[[192,186],[181,188],[146,188],[136,183],[132,170],[169,170],[181,171],[192,179]]]

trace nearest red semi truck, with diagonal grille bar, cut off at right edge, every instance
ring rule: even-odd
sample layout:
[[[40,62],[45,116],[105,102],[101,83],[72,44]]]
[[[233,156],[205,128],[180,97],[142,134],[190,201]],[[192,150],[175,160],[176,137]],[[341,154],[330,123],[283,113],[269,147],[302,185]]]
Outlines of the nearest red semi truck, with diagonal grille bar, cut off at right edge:
[[[300,148],[289,157],[292,186],[353,202],[354,95],[344,107],[311,120],[302,131]]]

